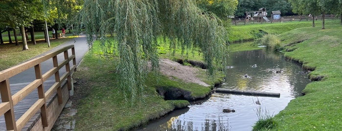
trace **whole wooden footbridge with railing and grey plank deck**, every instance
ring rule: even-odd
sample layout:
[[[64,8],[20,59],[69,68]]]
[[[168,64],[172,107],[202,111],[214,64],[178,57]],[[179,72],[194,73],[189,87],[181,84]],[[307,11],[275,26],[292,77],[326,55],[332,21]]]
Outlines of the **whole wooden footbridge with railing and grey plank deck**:
[[[42,63],[51,67],[44,72]],[[13,76],[30,70],[32,75],[24,79],[31,82],[10,83]],[[75,48],[68,45],[1,71],[0,131],[50,131],[73,91],[75,70]]]

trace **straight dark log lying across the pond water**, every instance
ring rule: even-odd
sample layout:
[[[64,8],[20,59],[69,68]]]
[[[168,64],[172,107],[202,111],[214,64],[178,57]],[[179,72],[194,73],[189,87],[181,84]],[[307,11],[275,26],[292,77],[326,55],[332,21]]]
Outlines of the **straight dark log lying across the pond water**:
[[[278,98],[280,97],[280,93],[273,93],[273,92],[237,90],[237,89],[226,89],[226,88],[217,88],[215,91],[222,92],[222,93],[241,94],[241,95],[268,96],[268,97],[278,97]]]

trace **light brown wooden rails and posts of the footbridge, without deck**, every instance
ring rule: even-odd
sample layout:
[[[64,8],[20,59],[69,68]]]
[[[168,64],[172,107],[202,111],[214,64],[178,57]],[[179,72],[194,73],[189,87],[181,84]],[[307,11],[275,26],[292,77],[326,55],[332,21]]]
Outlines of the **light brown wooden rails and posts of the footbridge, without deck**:
[[[68,50],[71,49],[71,55],[68,56]],[[64,58],[61,63],[58,64],[57,55],[64,53]],[[42,74],[41,63],[52,58],[53,67],[49,69],[46,73]],[[69,62],[72,61],[70,67]],[[65,66],[66,72],[59,78],[59,70]],[[21,90],[16,92],[14,95],[11,94],[9,79],[29,68],[34,67],[34,81],[29,83],[27,86],[23,87]],[[0,93],[1,93],[1,103],[0,103],[0,116],[4,115],[6,129],[13,131],[20,131],[26,125],[26,123],[36,114],[39,110],[41,112],[41,119],[43,127],[50,126],[47,122],[47,105],[46,100],[49,99],[54,92],[57,92],[58,103],[63,103],[63,97],[61,93],[61,85],[66,81],[68,89],[71,89],[71,74],[76,70],[76,58],[74,45],[68,45],[55,52],[46,54],[39,58],[35,58],[13,66],[11,68],[0,71]],[[50,78],[55,76],[55,84],[52,85],[46,92],[44,92],[43,83]],[[38,100],[26,111],[24,114],[16,121],[14,116],[14,106],[22,101],[27,95],[29,95],[33,90],[38,89]]]

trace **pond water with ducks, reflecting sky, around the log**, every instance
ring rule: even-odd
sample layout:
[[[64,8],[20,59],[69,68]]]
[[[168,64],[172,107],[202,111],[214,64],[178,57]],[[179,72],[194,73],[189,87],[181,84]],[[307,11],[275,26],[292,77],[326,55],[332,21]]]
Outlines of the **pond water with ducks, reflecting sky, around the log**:
[[[221,88],[275,92],[280,98],[213,93],[203,103],[175,110],[137,131],[251,131],[257,121],[257,100],[269,115],[275,115],[301,96],[310,82],[307,74],[299,73],[304,71],[299,64],[265,49],[231,53],[227,67]],[[236,111],[227,113],[223,109]]]

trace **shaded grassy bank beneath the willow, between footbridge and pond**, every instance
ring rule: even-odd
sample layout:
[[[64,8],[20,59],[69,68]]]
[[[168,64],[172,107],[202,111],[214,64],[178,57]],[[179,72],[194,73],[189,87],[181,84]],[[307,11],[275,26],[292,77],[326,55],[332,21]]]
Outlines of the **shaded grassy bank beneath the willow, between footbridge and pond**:
[[[210,92],[211,87],[185,83],[177,78],[170,80],[169,77],[151,72],[146,78],[144,96],[140,100],[127,102],[123,93],[116,87],[117,58],[104,59],[97,45],[98,42],[95,42],[93,50],[86,54],[73,76],[78,81],[75,94],[81,98],[77,105],[77,131],[129,130],[159,118],[173,109],[189,105],[185,100],[164,100],[156,92],[157,88],[179,88],[190,91],[193,97],[203,97]],[[162,58],[170,57],[170,51],[164,48],[164,45],[161,45],[159,52]]]

